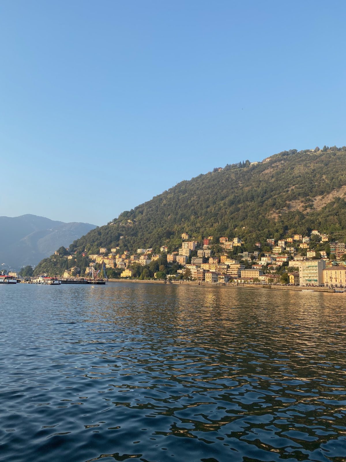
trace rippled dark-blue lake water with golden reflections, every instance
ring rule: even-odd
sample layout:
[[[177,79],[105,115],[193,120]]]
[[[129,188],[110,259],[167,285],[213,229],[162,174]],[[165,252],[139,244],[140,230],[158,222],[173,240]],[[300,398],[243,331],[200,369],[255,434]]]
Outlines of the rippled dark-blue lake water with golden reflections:
[[[345,461],[345,302],[0,285],[0,461]]]

